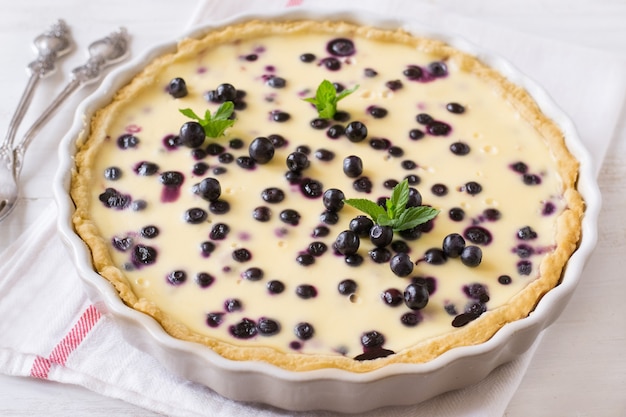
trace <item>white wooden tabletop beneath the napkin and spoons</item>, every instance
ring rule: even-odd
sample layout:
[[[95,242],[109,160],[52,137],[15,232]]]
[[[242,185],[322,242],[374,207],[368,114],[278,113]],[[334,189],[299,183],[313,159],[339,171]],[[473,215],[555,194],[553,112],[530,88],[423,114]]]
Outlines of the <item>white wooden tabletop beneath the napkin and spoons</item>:
[[[425,1],[515,30],[626,58],[624,0]],[[3,0],[0,132],[4,135],[26,83],[24,68],[34,58],[30,42],[55,19],[62,18],[71,26],[78,53],[64,59],[59,71],[41,84],[23,127],[34,120],[34,115],[67,80],[71,68],[83,63],[85,55],[80,51],[91,40],[125,26],[133,36],[133,50],[137,53],[152,43],[180,34],[195,7],[196,0]],[[601,77],[602,70],[599,65],[597,73],[589,76]],[[90,91],[85,89],[74,96],[46,129],[63,135],[73,109]],[[52,201],[56,145],[55,141],[35,141],[29,150],[19,205],[9,219],[0,223],[0,251]],[[604,204],[597,250],[567,309],[544,336],[509,405],[509,417],[626,416],[626,109],[622,109],[599,183]],[[4,375],[0,375],[0,415],[155,416],[80,387]]]

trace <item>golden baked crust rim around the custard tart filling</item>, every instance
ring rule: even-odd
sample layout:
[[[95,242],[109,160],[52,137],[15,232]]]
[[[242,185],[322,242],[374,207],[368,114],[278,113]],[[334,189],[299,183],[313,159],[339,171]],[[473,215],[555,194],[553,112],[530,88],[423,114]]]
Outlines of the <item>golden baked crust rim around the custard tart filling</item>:
[[[269,34],[288,35],[309,32],[331,33],[337,36],[360,36],[386,42],[403,43],[442,59],[454,60],[463,70],[473,73],[489,83],[520,112],[523,118],[540,132],[557,161],[558,173],[563,183],[563,198],[566,201],[566,209],[557,220],[556,249],[543,259],[540,265],[539,278],[529,283],[507,304],[487,311],[479,319],[454,332],[425,340],[385,358],[369,361],[356,361],[343,356],[284,353],[269,347],[232,345],[194,333],[184,324],[168,317],[149,300],[137,298],[124,273],[113,265],[107,242],[100,237],[98,228],[92,221],[89,212],[90,184],[93,175],[90,171],[91,162],[98,152],[98,138],[106,136],[103,132],[106,132],[108,121],[115,117],[121,103],[132,100],[138,91],[153,84],[160,68],[178,59],[193,56],[213,45],[228,43],[236,39],[250,39]],[[267,22],[253,20],[216,29],[201,39],[184,39],[179,43],[177,52],[163,55],[149,63],[128,85],[115,94],[110,104],[98,110],[90,120],[89,131],[89,134],[84,132],[77,140],[70,194],[76,205],[76,210],[72,216],[74,228],[91,250],[94,269],[113,284],[126,305],[156,319],[171,336],[206,345],[219,355],[231,360],[268,362],[293,371],[338,368],[361,373],[392,363],[425,363],[452,348],[481,344],[489,340],[505,324],[527,317],[543,295],[560,283],[567,261],[576,250],[581,237],[584,201],[576,189],[579,164],[567,149],[561,129],[541,112],[537,103],[525,89],[513,84],[476,57],[461,52],[441,41],[415,37],[403,30],[383,30],[334,21]]]

